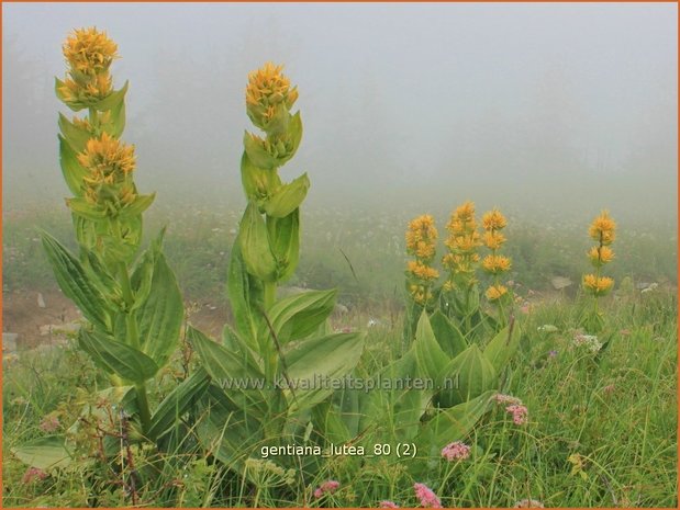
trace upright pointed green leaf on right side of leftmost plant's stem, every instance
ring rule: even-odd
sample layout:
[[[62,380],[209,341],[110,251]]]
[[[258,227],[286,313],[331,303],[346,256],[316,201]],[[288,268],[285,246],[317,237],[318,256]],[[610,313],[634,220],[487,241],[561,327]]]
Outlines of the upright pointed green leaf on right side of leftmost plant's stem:
[[[142,349],[158,366],[165,366],[177,348],[183,316],[185,304],[175,273],[165,256],[158,253],[148,297],[136,313]]]

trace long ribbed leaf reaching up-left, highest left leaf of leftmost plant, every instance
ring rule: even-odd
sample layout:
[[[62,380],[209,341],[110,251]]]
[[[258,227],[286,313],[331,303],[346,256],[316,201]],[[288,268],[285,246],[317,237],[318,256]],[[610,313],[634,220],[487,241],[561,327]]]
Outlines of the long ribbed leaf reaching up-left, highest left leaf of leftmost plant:
[[[49,234],[42,233],[41,237],[62,292],[73,299],[86,319],[103,331],[110,331],[111,307],[97,285],[88,279],[78,259]]]

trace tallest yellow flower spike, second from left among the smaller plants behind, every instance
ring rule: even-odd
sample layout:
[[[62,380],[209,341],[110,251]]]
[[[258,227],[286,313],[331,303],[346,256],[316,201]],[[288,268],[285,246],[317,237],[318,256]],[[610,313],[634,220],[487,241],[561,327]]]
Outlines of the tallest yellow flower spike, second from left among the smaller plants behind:
[[[475,264],[479,262],[477,248],[481,246],[475,219],[475,204],[468,201],[456,207],[446,229],[449,236],[444,243],[449,252],[442,259],[442,263],[450,272],[446,288],[454,288],[457,284],[470,286],[475,283]]]

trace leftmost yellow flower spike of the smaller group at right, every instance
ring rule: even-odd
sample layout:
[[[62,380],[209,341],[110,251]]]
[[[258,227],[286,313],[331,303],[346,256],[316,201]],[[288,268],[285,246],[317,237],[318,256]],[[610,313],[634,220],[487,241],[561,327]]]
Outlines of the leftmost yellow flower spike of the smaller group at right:
[[[406,251],[415,260],[409,261],[409,292],[413,301],[425,305],[433,297],[431,287],[439,277],[439,272],[431,265],[436,252],[438,233],[434,218],[424,214],[411,220],[406,230]]]

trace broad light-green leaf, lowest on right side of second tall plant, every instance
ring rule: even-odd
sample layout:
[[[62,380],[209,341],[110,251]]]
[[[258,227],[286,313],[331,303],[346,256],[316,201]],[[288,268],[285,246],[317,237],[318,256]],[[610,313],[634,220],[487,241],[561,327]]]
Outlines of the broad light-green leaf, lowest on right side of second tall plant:
[[[308,409],[327,398],[333,388],[319,379],[345,377],[357,365],[364,351],[364,333],[336,333],[300,342],[286,354],[294,397],[286,393],[294,411]]]

